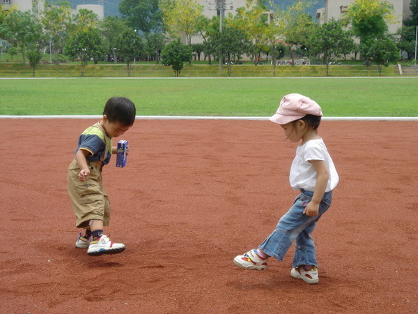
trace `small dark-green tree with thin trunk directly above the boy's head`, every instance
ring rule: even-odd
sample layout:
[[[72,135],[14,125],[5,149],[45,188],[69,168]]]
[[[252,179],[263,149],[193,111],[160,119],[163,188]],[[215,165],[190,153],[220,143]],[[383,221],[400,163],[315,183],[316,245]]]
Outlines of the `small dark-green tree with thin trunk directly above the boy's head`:
[[[144,43],[137,31],[127,29],[116,40],[116,46],[118,56],[125,60],[127,76],[130,76],[130,64],[144,53]]]

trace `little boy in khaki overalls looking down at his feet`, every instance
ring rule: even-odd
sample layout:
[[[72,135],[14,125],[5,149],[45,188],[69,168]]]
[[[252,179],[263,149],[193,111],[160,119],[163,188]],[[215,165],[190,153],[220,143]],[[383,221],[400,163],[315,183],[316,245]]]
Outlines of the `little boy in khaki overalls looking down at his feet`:
[[[114,243],[103,234],[103,227],[109,225],[110,203],[102,185],[102,167],[109,163],[111,154],[116,154],[112,137],[129,130],[135,115],[131,100],[123,97],[107,100],[102,120],[80,135],[75,158],[68,168],[68,194],[77,217],[76,226],[84,229],[79,232],[75,246],[88,248],[88,255],[125,251],[124,244]]]

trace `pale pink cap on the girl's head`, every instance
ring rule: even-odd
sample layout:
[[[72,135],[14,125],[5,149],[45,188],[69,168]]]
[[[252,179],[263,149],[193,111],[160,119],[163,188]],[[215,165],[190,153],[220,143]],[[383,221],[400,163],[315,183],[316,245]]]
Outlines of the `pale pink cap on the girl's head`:
[[[288,124],[302,119],[307,114],[323,117],[320,106],[311,98],[300,94],[288,94],[281,98],[277,112],[270,117],[276,124]]]

